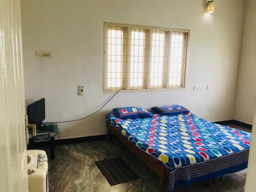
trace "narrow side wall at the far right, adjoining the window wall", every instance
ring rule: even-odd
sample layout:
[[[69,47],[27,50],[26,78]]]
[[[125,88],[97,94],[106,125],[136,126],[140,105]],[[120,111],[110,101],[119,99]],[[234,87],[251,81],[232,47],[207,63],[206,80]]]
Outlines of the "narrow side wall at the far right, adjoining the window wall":
[[[247,0],[235,119],[252,124],[256,101],[256,1]]]

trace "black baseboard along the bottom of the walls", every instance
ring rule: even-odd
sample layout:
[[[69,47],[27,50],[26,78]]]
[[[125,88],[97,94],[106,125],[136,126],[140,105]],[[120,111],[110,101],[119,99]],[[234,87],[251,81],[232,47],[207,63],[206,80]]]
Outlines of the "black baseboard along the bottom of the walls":
[[[251,124],[247,124],[238,120],[224,120],[224,121],[216,121],[214,123],[217,124],[237,124],[240,126],[244,126],[246,128],[252,129]],[[111,137],[115,137],[115,135],[111,135]],[[69,138],[69,139],[58,139],[55,140],[55,145],[65,145],[65,144],[73,144],[73,143],[82,143],[82,142],[88,142],[88,141],[98,141],[98,140],[105,140],[106,135],[95,135],[95,136],[88,136],[88,137],[77,137],[77,138]],[[36,147],[44,147],[44,146],[50,146],[50,141],[41,141],[35,143]]]

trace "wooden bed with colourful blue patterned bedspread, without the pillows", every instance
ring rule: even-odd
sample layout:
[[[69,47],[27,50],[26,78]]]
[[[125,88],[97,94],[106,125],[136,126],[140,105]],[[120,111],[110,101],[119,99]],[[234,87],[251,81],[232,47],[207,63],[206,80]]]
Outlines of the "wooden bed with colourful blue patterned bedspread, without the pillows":
[[[247,168],[251,134],[191,114],[119,119],[106,116],[115,134],[159,176],[159,191]]]

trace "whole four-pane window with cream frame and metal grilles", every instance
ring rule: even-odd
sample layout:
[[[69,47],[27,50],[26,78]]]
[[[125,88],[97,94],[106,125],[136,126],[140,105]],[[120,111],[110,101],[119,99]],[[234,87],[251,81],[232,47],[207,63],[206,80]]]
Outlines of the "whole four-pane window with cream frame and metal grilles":
[[[105,23],[104,91],[183,88],[189,30]]]

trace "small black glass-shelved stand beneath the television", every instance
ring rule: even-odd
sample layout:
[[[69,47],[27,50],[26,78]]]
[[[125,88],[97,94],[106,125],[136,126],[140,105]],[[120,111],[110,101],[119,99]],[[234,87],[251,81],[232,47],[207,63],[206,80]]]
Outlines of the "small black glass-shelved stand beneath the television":
[[[50,159],[55,158],[55,136],[59,134],[57,123],[42,123],[42,126],[36,127],[36,136],[33,137],[32,130],[29,130],[28,150],[34,150],[36,147],[50,145]]]

